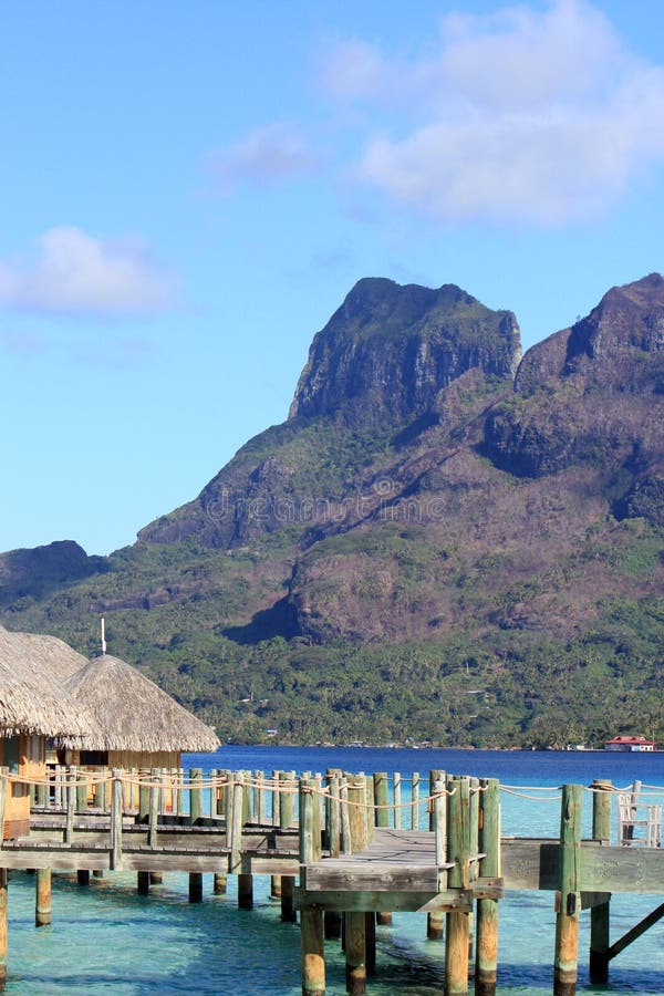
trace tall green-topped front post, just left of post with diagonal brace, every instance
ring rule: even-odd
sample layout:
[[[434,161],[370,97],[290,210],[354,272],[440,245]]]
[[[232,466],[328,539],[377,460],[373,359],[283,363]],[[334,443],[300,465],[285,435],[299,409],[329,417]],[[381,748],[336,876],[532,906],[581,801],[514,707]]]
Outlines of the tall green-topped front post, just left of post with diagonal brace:
[[[554,996],[574,996],[579,956],[579,871],[581,863],[580,785],[563,785],[560,809],[560,862],[556,896]]]

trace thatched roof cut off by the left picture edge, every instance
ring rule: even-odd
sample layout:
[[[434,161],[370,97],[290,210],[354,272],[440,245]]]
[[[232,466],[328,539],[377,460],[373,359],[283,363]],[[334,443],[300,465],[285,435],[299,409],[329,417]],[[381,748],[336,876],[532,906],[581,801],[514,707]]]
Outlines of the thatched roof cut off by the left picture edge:
[[[91,722],[85,710],[58,688],[56,678],[59,664],[62,672],[71,671],[85,657],[52,636],[27,637],[0,626],[0,736],[87,733]]]

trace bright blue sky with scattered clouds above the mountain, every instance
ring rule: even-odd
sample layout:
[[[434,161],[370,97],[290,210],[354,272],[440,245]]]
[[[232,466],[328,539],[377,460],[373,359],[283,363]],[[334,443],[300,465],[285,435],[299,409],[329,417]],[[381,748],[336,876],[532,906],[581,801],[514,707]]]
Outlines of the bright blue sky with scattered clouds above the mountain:
[[[0,11],[0,550],[134,541],[282,422],[361,277],[525,349],[664,271],[661,0]]]

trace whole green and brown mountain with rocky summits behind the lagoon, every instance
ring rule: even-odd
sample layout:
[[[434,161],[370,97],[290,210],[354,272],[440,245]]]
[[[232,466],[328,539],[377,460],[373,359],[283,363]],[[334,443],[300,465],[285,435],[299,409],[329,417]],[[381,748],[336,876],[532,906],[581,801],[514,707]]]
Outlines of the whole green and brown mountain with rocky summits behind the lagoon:
[[[522,360],[511,312],[361,280],[287,422],[133,547],[0,554],[0,621],[91,653],[104,614],[230,739],[664,735],[663,415],[658,274]]]

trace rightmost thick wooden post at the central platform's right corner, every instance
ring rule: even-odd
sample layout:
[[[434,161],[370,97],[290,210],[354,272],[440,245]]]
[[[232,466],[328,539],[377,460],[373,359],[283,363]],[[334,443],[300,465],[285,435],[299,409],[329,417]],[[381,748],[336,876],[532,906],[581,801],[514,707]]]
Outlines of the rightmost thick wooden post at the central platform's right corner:
[[[500,876],[500,785],[497,778],[480,779],[479,850],[481,874]],[[498,977],[498,900],[477,901],[475,996],[494,996]]]

